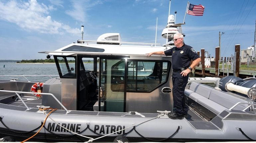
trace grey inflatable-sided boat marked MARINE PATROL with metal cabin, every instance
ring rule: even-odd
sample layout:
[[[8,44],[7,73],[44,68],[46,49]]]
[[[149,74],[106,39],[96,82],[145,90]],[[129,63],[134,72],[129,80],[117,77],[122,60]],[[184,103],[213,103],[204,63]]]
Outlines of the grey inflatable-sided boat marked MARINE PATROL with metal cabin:
[[[167,28],[180,32],[179,24],[171,20]],[[174,33],[165,31],[162,35],[172,39]],[[122,42],[119,34],[108,33],[97,41],[78,40],[55,51],[40,52],[55,59],[59,77],[43,84],[40,80],[0,80],[1,141],[256,139],[255,79],[228,76],[216,88],[190,82],[185,90],[188,116],[168,118],[175,111],[172,57],[148,57],[146,53],[173,45],[155,44]],[[92,70],[88,70],[89,64]],[[143,70],[147,72],[141,76]]]

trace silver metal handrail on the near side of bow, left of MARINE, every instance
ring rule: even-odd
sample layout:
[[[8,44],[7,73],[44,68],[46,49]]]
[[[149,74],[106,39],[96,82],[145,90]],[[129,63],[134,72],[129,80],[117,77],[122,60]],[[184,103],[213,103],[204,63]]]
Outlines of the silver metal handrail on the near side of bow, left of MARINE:
[[[42,95],[51,95],[61,106],[62,108],[66,111],[66,113],[69,113],[69,111],[65,108],[65,106],[52,94],[52,93],[38,93],[38,92],[25,92],[25,91],[10,91],[10,90],[0,90],[0,92],[10,92],[10,93],[16,93],[18,95],[18,93],[25,93],[25,94],[42,94]],[[26,108],[28,110],[30,110],[30,108],[27,106],[27,104],[22,100],[22,98],[20,96],[18,96],[22,103],[26,106]]]

